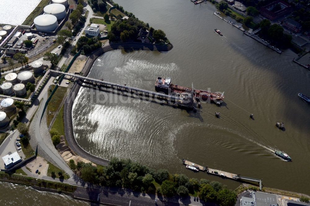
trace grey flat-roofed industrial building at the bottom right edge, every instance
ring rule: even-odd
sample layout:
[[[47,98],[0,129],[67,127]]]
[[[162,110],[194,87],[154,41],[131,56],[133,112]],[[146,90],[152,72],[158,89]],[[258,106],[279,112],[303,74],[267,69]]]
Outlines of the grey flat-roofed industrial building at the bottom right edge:
[[[242,196],[240,199],[240,206],[278,206],[276,195],[255,192],[250,193],[250,197]]]

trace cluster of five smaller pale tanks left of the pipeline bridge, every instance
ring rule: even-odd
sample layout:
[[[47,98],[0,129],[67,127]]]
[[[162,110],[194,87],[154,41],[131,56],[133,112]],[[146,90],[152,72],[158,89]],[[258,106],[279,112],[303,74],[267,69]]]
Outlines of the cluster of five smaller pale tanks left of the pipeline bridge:
[[[41,73],[44,70],[44,65],[41,61],[32,62],[31,66],[35,74]],[[1,85],[1,90],[3,93],[5,95],[10,95],[15,92],[16,96],[23,96],[26,94],[25,84],[28,82],[33,83],[35,80],[31,71],[21,71],[18,74],[9,73],[5,75],[4,79],[6,82]]]

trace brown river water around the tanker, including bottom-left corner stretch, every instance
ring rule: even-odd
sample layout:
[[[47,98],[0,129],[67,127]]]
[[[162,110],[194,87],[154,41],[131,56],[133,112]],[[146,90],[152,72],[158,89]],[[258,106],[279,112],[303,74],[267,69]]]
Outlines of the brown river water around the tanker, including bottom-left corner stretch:
[[[292,51],[280,55],[243,35],[213,15],[215,6],[210,2],[115,2],[166,32],[174,48],[169,52],[108,52],[95,62],[90,77],[154,91],[156,78],[169,76],[172,84],[191,87],[193,83],[195,88],[225,92],[225,99],[221,107],[202,104],[194,113],[82,88],[73,106],[73,126],[83,149],[104,159],[131,158],[154,169],[216,180],[231,189],[240,184],[192,173],[182,165],[186,158],[262,178],[266,187],[310,194],[310,105],[297,96],[299,92],[310,95],[310,72],[292,62],[296,56]],[[224,36],[216,34],[215,28]],[[215,111],[221,113],[219,119]],[[284,122],[285,131],[276,122]],[[292,161],[275,156],[275,149],[288,153]],[[60,201],[53,205],[62,205],[62,201],[82,204],[24,186],[1,183],[0,188],[5,205],[16,205],[11,204],[13,197],[23,197],[16,199],[23,205],[32,205],[34,200],[46,205],[49,198]]]

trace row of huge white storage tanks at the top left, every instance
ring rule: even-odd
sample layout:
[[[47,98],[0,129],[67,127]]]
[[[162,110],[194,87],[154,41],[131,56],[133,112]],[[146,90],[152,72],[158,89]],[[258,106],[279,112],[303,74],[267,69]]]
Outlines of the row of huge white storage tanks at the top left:
[[[65,18],[68,6],[68,0],[52,0],[51,4],[44,7],[44,14],[37,16],[33,20],[36,29],[54,31],[58,26],[57,20]]]

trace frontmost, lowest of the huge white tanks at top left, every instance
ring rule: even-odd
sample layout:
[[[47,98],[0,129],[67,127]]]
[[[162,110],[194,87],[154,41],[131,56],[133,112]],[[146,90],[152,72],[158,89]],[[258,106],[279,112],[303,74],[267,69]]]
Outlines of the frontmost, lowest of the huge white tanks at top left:
[[[52,32],[58,26],[57,18],[51,14],[39,15],[33,20],[33,22],[36,25],[36,29],[38,31]]]

